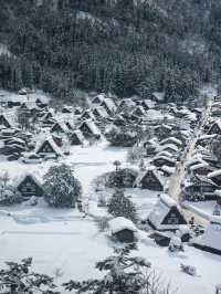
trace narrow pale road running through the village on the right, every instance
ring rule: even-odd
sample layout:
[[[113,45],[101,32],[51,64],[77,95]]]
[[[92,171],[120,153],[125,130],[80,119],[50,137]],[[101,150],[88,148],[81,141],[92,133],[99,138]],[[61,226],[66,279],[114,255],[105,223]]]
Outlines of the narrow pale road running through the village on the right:
[[[204,107],[204,112],[202,113],[201,120],[194,128],[194,132],[189,139],[187,147],[182,153],[182,157],[180,162],[177,165],[176,174],[172,176],[170,183],[169,183],[169,196],[180,204],[183,216],[187,220],[190,220],[192,217],[194,218],[194,222],[197,224],[207,225],[208,220],[202,218],[201,216],[188,210],[182,206],[181,201],[181,183],[185,179],[186,175],[186,164],[190,160],[193,156],[196,144],[199,137],[202,135],[203,128],[208,122],[208,118],[211,115],[211,107],[212,107],[212,99],[208,99],[207,106]]]

